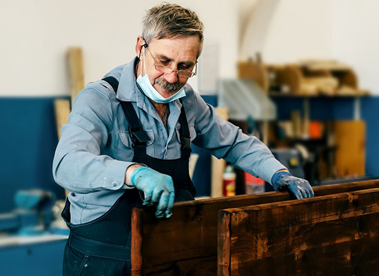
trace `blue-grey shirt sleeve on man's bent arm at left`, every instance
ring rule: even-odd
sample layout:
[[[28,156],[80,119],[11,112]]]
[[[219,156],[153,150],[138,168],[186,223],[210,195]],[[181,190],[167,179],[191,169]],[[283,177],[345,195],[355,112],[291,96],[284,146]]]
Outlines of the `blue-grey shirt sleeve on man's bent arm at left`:
[[[101,155],[112,125],[109,97],[91,88],[81,91],[55,151],[52,172],[57,184],[75,193],[128,188],[125,171],[134,163]]]

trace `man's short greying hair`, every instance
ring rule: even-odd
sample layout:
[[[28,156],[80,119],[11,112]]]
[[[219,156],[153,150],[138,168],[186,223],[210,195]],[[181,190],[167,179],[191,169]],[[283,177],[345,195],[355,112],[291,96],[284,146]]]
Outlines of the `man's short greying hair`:
[[[203,49],[203,30],[203,23],[195,12],[163,2],[147,11],[143,19],[142,37],[149,44],[152,39],[197,35],[200,40],[197,55],[199,57]]]

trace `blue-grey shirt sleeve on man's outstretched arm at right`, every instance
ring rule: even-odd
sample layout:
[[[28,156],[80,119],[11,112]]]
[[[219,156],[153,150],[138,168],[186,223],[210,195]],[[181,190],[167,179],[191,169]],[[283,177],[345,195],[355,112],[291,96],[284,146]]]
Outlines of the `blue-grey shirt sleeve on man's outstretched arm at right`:
[[[285,169],[262,141],[245,135],[240,128],[218,117],[213,106],[194,93],[196,108],[196,146],[206,148],[218,159],[225,159],[255,177],[271,184],[272,176]]]

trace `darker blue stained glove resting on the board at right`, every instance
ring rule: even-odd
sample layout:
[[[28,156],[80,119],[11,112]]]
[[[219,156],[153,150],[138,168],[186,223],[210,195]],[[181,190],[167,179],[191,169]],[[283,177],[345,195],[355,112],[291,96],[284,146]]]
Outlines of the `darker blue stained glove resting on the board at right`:
[[[303,178],[294,177],[289,172],[276,172],[272,177],[274,190],[289,190],[297,199],[314,197],[309,182]]]

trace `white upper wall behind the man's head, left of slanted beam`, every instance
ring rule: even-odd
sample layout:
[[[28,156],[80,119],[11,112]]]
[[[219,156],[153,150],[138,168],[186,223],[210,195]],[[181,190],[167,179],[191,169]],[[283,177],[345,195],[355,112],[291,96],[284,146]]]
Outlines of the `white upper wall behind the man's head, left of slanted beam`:
[[[171,1],[170,1],[171,2]],[[237,14],[233,1],[175,1],[205,25],[205,43],[218,43],[222,77],[235,76]],[[145,11],[161,1],[1,0],[0,96],[69,95],[65,60],[81,46],[85,83],[134,57]],[[191,80],[197,86],[196,77]]]

